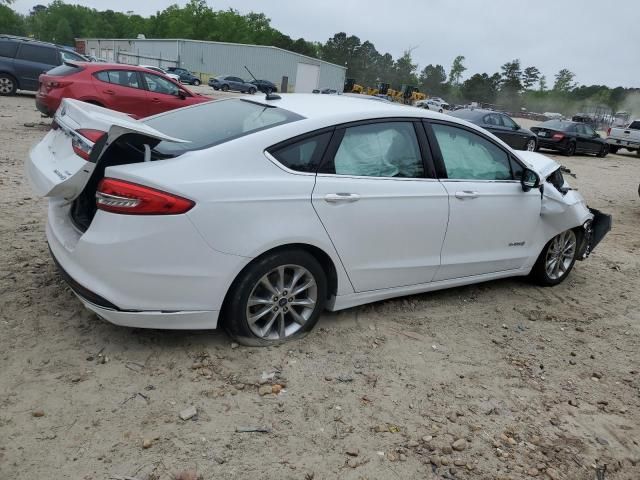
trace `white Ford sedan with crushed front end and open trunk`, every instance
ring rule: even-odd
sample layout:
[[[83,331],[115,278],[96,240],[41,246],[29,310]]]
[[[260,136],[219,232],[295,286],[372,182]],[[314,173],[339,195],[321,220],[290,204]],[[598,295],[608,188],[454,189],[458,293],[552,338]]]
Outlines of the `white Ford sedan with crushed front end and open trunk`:
[[[27,162],[73,291],[119,325],[300,337],[324,309],[504,277],[562,282],[611,217],[465,121],[331,95],[143,120],[66,99]]]

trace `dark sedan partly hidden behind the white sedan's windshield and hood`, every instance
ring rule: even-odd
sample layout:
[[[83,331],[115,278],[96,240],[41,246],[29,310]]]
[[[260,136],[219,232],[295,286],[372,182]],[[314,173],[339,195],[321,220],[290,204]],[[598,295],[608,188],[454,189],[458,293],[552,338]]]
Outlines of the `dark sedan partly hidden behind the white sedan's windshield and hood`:
[[[536,134],[531,130],[522,128],[509,115],[504,113],[479,108],[463,108],[451,112],[450,115],[475,123],[488,130],[511,148],[532,152],[537,147]]]

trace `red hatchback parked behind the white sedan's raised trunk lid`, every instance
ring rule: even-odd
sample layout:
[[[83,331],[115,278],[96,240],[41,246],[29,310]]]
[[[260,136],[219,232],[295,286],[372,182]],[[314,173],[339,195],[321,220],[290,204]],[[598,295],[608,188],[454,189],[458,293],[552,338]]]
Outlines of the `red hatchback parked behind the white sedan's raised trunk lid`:
[[[212,100],[153,70],[133,65],[67,62],[43,73],[39,80],[36,107],[48,116],[53,116],[65,97],[134,118]]]

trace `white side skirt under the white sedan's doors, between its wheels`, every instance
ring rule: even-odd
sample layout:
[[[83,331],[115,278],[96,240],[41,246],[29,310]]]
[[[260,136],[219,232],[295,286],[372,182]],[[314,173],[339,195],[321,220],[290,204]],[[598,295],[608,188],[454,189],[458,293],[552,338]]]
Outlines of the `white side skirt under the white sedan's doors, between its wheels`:
[[[387,300],[389,298],[432,292],[434,290],[444,290],[445,288],[461,287],[463,285],[488,282],[490,280],[497,280],[499,278],[518,277],[528,275],[530,271],[531,265],[516,270],[505,270],[503,272],[453,278],[450,280],[441,280],[439,282],[421,283],[418,285],[409,285],[406,287],[387,288],[384,290],[372,290],[369,292],[340,295],[329,300],[327,304],[327,310],[343,310],[345,308],[357,307],[358,305],[364,305],[371,302],[379,302],[380,300]]]

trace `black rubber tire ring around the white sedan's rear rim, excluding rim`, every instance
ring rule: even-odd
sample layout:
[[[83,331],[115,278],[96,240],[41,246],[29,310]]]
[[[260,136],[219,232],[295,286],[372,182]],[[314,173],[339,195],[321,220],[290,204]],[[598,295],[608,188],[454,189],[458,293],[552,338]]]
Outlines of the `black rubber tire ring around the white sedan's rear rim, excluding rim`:
[[[249,327],[249,319],[247,318],[249,297],[265,275],[285,265],[303,267],[313,276],[317,288],[317,301],[308,320],[297,332],[280,339],[261,338],[254,334]],[[259,257],[240,272],[225,298],[221,312],[222,325],[229,336],[242,345],[255,347],[276,345],[304,337],[318,322],[326,300],[327,277],[318,260],[304,250],[277,251]]]

